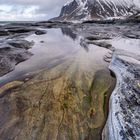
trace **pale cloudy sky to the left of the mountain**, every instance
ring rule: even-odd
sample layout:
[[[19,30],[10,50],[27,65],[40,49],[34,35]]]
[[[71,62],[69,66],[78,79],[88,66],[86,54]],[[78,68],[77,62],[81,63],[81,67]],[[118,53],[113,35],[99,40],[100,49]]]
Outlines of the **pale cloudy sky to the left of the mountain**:
[[[0,0],[0,21],[46,20],[69,0]]]

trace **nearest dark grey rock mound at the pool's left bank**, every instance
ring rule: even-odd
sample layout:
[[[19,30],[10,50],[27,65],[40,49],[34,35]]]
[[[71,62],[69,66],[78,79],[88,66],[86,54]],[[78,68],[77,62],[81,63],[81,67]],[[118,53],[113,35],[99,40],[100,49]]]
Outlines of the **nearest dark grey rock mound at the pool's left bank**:
[[[22,42],[15,41],[11,45],[0,44],[0,76],[12,71],[16,64],[32,56],[32,53],[27,50],[27,47],[31,46],[30,42],[24,40]]]

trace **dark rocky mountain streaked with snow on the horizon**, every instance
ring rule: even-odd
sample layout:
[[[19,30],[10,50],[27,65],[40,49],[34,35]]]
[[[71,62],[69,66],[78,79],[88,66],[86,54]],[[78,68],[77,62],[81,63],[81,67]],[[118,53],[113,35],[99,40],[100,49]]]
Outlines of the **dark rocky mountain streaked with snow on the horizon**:
[[[126,17],[133,14],[134,1],[136,0],[73,0],[62,7],[59,19]]]

